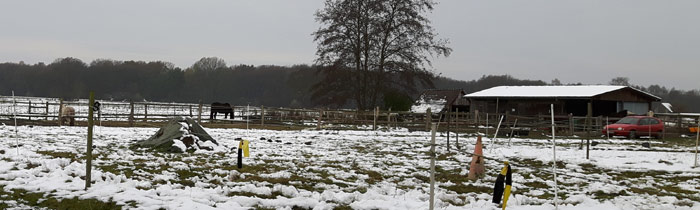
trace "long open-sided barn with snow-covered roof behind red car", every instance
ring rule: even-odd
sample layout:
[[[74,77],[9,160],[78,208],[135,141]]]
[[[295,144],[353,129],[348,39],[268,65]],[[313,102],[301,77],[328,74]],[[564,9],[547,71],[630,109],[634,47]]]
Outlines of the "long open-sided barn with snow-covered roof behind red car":
[[[585,116],[592,103],[593,116],[646,114],[658,96],[628,86],[498,86],[464,96],[470,112],[514,115],[549,114]]]

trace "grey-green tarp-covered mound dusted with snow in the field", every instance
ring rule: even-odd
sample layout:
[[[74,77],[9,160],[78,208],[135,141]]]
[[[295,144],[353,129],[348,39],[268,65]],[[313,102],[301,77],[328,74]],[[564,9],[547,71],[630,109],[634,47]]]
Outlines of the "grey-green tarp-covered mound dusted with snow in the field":
[[[187,127],[183,124],[186,124]],[[197,136],[199,141],[211,141],[219,145],[214,138],[204,131],[201,125],[189,117],[175,117],[171,119],[166,125],[161,127],[155,135],[151,136],[151,138],[136,142],[136,144],[146,147],[169,147],[173,144],[173,140],[180,139],[187,133]]]

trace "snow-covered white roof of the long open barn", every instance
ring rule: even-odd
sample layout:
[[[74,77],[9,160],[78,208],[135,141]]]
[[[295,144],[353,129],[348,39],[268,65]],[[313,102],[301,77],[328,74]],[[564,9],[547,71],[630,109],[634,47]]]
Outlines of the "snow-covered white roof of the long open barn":
[[[590,98],[600,94],[630,88],[660,100],[658,96],[627,86],[578,85],[578,86],[498,86],[475,93],[467,98]]]

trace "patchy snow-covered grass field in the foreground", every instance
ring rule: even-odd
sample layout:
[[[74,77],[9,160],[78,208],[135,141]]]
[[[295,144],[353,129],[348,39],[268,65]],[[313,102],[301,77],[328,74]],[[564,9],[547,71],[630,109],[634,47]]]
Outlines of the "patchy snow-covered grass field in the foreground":
[[[22,126],[17,150],[14,128],[2,125],[0,206],[29,208],[9,195],[21,190],[135,209],[428,208],[427,132],[207,129],[222,143],[215,151],[170,154],[131,147],[156,130],[95,128],[93,184],[84,190],[85,127]],[[231,149],[238,137],[251,140],[242,169]],[[490,200],[503,164],[487,161],[486,178],[469,181],[471,156],[456,152],[454,137],[451,152],[446,137],[437,140],[437,209],[500,209]],[[554,209],[551,142],[506,141],[485,139],[484,153],[512,164],[507,209]],[[586,160],[579,140],[557,140],[560,209],[700,209],[693,148],[597,141]],[[459,139],[462,151],[472,152],[474,143],[474,137]]]

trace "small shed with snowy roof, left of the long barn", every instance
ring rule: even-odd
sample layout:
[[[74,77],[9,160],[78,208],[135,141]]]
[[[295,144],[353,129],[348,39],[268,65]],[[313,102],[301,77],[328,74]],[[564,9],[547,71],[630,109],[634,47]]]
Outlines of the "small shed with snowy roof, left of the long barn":
[[[411,106],[411,111],[415,113],[425,113],[428,108],[433,113],[443,112],[452,109],[466,112],[469,110],[469,101],[464,98],[465,92],[462,89],[430,89],[425,90],[418,97],[418,100]]]

